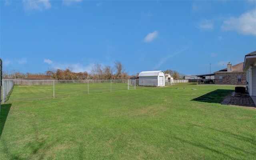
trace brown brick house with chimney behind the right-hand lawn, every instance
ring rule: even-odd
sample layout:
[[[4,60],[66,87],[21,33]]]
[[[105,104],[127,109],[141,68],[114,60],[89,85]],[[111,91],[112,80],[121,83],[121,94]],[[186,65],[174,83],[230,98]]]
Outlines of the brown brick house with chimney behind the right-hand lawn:
[[[246,85],[246,72],[243,70],[244,62],[232,66],[228,62],[227,68],[215,73],[215,84]]]

